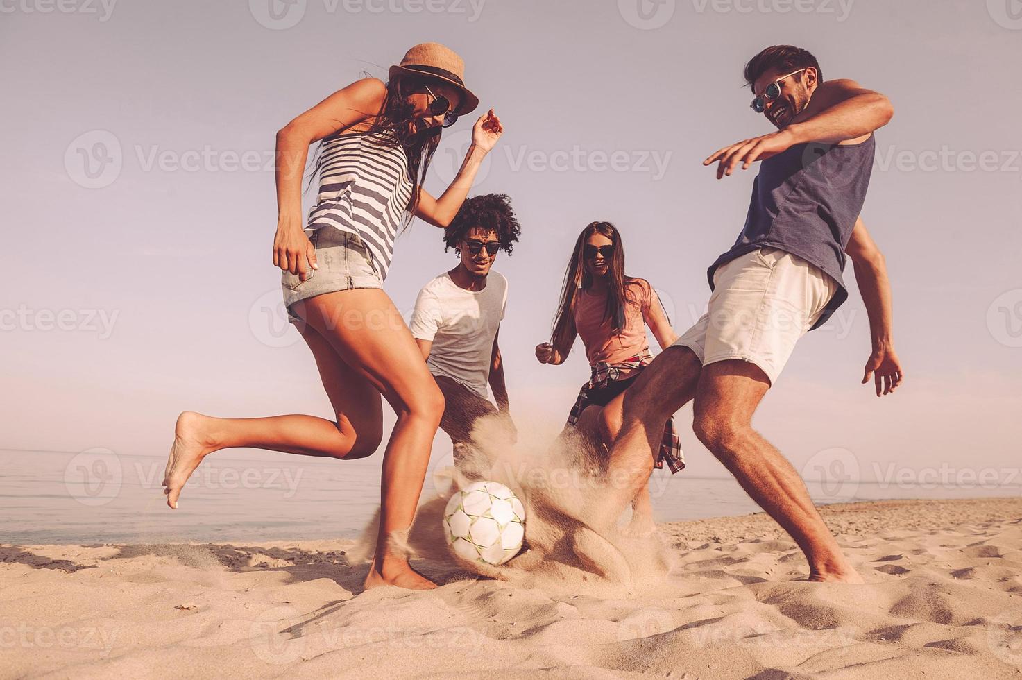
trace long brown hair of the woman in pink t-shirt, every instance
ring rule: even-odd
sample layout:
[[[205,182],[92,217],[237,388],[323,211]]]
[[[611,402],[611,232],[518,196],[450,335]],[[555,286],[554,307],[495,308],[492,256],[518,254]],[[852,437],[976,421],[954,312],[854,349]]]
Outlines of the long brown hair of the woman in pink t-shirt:
[[[607,263],[607,305],[603,311],[603,320],[611,323],[615,334],[624,329],[624,305],[634,302],[629,297],[628,287],[634,279],[624,275],[624,245],[621,243],[621,235],[617,228],[609,222],[591,222],[578,234],[571,259],[568,260],[567,271],[564,273],[561,302],[557,306],[557,314],[554,316],[554,332],[551,339],[554,347],[561,347],[576,332],[574,324],[575,297],[579,290],[588,289],[593,285],[593,275],[586,269],[585,255],[586,241],[593,234],[606,236],[614,245],[610,261]]]

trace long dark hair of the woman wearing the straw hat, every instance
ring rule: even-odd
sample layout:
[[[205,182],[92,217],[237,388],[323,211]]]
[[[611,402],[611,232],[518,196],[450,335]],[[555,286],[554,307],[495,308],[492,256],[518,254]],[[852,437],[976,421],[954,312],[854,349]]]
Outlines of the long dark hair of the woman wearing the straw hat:
[[[419,187],[426,178],[429,162],[440,141],[442,128],[409,130],[408,126],[414,118],[413,111],[415,110],[415,106],[408,101],[408,95],[429,82],[429,78],[417,76],[400,75],[392,78],[386,84],[386,96],[383,98],[383,103],[380,105],[373,124],[366,131],[367,135],[372,135],[382,144],[405,148],[405,155],[408,156],[408,179],[412,182],[412,195],[405,208],[404,223],[406,228],[415,217],[415,209],[419,205]],[[320,141],[316,148],[315,167],[309,175],[309,184],[306,186],[307,191],[312,186],[313,178],[323,169],[323,144],[344,134],[349,127],[351,126],[345,126]]]

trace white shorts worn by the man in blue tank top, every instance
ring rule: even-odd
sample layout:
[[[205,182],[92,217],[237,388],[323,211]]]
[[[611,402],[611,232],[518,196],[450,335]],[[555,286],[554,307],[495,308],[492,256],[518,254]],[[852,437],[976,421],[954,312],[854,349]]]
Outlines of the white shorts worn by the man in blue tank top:
[[[713,272],[708,311],[675,345],[695,352],[704,366],[749,361],[773,384],[835,290],[834,279],[790,253],[776,247],[746,253]]]

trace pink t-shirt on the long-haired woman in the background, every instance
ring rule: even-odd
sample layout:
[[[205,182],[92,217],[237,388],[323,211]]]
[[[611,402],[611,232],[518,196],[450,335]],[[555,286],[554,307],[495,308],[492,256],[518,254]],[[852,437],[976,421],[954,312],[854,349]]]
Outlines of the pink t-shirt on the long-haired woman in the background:
[[[635,279],[625,286],[629,302],[624,305],[624,328],[614,334],[610,321],[604,321],[607,294],[579,290],[575,296],[574,319],[578,337],[586,346],[591,366],[598,362],[617,364],[643,352],[649,352],[646,324],[655,298],[649,281]]]

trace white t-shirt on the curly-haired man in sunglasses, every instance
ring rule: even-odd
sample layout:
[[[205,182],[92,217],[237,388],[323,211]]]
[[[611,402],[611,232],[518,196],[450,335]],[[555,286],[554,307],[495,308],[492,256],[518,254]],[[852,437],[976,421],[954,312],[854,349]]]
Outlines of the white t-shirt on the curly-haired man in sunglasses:
[[[419,339],[432,341],[426,364],[486,398],[494,337],[504,318],[508,281],[490,271],[486,287],[466,290],[445,272],[426,283],[415,301],[409,327]]]

